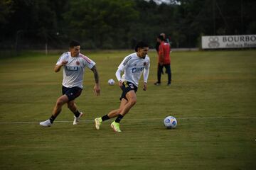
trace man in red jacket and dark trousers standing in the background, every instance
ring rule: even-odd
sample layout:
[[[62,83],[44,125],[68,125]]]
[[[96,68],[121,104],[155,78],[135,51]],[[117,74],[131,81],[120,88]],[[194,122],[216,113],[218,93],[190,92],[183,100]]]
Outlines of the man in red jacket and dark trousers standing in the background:
[[[158,67],[157,67],[157,81],[154,83],[156,86],[161,84],[161,70],[166,68],[166,73],[168,74],[168,86],[171,86],[171,58],[170,51],[171,47],[168,42],[164,42],[164,37],[159,35],[158,40],[160,42],[159,52],[158,52]]]

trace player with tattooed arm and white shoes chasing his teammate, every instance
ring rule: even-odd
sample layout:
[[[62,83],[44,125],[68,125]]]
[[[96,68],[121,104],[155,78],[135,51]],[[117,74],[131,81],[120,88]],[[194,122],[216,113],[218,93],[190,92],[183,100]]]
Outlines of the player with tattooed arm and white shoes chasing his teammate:
[[[53,114],[46,121],[40,123],[44,127],[50,127],[55,118],[60,114],[62,106],[67,103],[70,111],[74,113],[73,125],[77,125],[82,116],[82,112],[78,111],[75,104],[75,98],[82,93],[82,81],[85,67],[92,70],[95,77],[94,91],[97,96],[100,95],[99,74],[97,72],[95,62],[80,53],[80,42],[72,40],[70,42],[70,51],[63,53],[54,67],[55,72],[59,72],[63,68],[63,96],[57,99],[53,108]]]

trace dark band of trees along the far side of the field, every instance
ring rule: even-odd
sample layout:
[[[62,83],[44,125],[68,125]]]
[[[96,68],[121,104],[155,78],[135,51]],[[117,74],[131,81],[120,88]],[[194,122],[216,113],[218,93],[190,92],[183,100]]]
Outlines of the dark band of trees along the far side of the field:
[[[166,33],[171,47],[199,47],[201,35],[255,34],[256,1],[1,0],[1,48],[59,48],[76,39],[88,49],[154,47]],[[37,46],[38,45],[38,46]]]

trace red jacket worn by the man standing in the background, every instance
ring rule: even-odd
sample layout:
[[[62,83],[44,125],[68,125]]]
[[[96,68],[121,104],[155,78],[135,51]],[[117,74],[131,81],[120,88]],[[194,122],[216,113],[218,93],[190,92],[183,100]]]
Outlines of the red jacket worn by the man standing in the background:
[[[162,41],[159,45],[159,61],[163,62],[164,64],[171,64],[171,57],[170,57],[171,47],[168,42]]]

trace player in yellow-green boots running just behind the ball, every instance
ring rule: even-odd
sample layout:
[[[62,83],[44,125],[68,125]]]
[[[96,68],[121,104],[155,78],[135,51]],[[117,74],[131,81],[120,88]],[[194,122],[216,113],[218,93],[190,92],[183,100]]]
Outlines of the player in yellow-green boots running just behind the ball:
[[[116,72],[119,86],[122,89],[120,106],[118,109],[110,111],[110,113],[103,115],[101,118],[95,118],[95,128],[97,130],[100,129],[100,125],[103,121],[117,117],[110,126],[114,132],[121,132],[119,128],[120,121],[137,102],[135,93],[138,89],[139,78],[142,76],[142,73],[144,77],[143,90],[146,91],[146,82],[149,77],[150,67],[149,56],[147,55],[149,52],[149,45],[145,42],[138,42],[135,51],[136,52],[124,58],[121,64],[119,64]],[[124,72],[124,74],[121,77],[120,74],[122,72]]]

